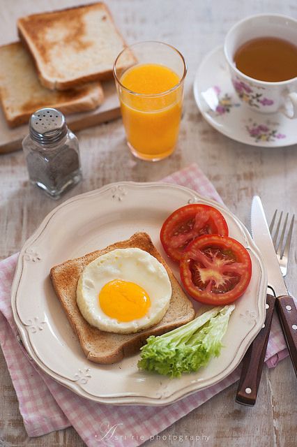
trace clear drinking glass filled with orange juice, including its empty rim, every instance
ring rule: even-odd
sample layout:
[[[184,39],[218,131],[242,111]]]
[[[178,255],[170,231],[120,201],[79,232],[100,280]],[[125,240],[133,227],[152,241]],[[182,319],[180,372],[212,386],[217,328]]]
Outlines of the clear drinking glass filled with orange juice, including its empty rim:
[[[116,58],[123,125],[128,146],[139,159],[157,161],[174,152],[186,73],[183,55],[166,43],[135,43]]]

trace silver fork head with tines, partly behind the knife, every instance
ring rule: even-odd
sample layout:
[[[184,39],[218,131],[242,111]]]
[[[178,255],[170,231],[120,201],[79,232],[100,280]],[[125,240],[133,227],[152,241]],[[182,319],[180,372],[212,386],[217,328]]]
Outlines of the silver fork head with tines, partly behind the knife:
[[[269,231],[271,232],[271,237],[273,240],[273,245],[275,247],[277,260],[278,260],[278,263],[280,264],[280,271],[282,272],[282,276],[285,277],[287,274],[287,270],[288,270],[289,249],[290,249],[291,238],[292,238],[292,234],[293,234],[295,214],[293,214],[293,216],[291,218],[289,232],[287,233],[287,237],[284,242],[284,235],[286,233],[287,223],[288,223],[288,219],[289,219],[289,213],[287,212],[287,215],[284,219],[284,225],[282,226],[282,233],[280,235],[280,240],[277,243],[277,237],[278,237],[278,233],[280,232],[280,225],[282,223],[282,216],[283,216],[283,212],[280,212],[280,217],[277,221],[277,226],[273,232],[275,220],[277,217],[277,210],[275,210],[275,212],[273,214],[273,218],[271,220],[271,224],[269,226]]]

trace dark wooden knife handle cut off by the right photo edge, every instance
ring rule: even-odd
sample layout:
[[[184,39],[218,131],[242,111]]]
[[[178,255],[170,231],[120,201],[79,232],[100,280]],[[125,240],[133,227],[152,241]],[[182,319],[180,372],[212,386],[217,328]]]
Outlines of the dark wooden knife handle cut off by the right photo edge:
[[[287,295],[277,297],[276,309],[297,376],[297,310],[293,298]]]

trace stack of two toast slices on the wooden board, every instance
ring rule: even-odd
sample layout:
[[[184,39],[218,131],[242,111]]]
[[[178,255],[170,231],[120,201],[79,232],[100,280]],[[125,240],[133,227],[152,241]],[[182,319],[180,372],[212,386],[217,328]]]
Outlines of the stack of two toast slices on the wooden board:
[[[8,126],[43,107],[63,113],[97,108],[101,81],[112,78],[125,41],[104,3],[33,14],[17,20],[20,41],[0,47],[0,100]],[[125,66],[134,57],[128,54]]]

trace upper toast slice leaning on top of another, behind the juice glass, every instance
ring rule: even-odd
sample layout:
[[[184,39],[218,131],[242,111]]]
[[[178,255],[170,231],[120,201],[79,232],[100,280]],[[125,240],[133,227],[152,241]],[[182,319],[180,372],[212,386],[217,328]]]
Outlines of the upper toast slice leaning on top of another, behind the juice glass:
[[[28,15],[17,21],[17,29],[33,56],[40,82],[49,89],[112,78],[116,56],[126,46],[101,2]],[[134,60],[128,53],[123,67]]]

